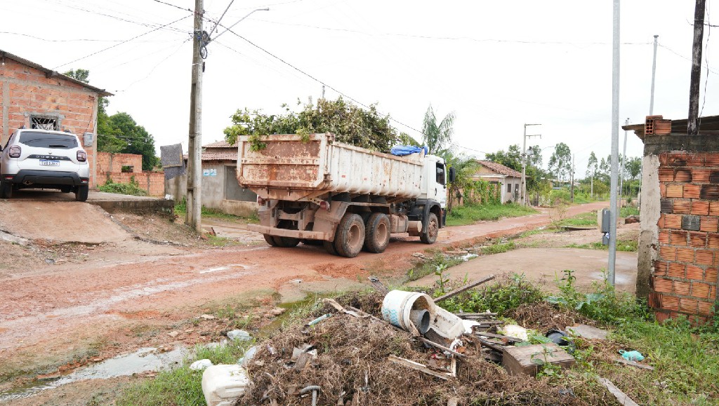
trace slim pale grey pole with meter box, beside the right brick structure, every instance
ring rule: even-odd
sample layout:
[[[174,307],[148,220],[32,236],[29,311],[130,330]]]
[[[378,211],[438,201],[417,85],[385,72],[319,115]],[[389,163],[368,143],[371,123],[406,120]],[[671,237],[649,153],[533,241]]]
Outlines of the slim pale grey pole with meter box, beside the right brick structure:
[[[612,170],[609,185],[609,264],[607,279],[614,286],[617,260],[617,172],[619,154],[619,0],[613,1],[612,35]]]

